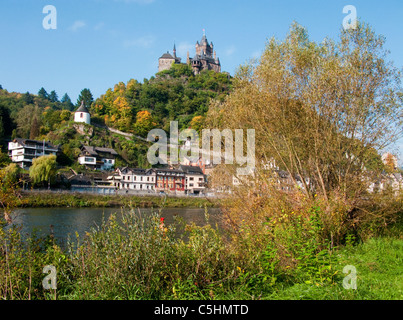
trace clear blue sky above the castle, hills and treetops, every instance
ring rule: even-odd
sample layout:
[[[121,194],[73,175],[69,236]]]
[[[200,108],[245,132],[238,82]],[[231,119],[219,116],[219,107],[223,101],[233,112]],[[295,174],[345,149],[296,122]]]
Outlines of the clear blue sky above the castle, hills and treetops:
[[[56,30],[42,26],[46,5],[57,9]],[[403,67],[401,0],[1,0],[0,84],[67,92],[73,102],[89,88],[97,98],[120,81],[150,78],[174,42],[179,56],[192,56],[203,29],[233,74],[268,38],[283,39],[293,21],[314,41],[336,38],[346,5],[386,36],[391,60]]]

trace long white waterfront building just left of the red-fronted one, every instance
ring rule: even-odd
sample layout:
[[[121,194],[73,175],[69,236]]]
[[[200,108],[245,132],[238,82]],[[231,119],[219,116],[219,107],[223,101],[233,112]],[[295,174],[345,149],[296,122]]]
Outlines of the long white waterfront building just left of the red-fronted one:
[[[154,191],[156,173],[153,169],[118,168],[109,180],[120,190]]]

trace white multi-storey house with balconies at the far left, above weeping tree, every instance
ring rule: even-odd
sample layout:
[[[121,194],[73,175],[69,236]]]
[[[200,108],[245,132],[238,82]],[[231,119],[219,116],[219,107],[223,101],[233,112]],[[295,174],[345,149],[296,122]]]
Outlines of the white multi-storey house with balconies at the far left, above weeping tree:
[[[33,159],[45,155],[56,155],[58,150],[58,147],[46,141],[17,138],[8,143],[11,161],[23,169],[29,168]]]

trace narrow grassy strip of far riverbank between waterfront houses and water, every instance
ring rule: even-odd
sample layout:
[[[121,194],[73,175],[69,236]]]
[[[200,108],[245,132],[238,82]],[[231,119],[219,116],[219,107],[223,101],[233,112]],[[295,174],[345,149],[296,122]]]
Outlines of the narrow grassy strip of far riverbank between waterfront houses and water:
[[[217,200],[196,197],[97,195],[84,193],[23,192],[19,208],[203,208],[217,207]]]

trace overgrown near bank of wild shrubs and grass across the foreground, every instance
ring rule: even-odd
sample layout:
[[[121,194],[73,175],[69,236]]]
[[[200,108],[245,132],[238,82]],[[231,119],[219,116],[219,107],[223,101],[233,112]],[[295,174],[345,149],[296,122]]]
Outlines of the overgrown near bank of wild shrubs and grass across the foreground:
[[[208,216],[206,216],[208,219]],[[403,299],[403,228],[365,242],[314,250],[294,243],[295,264],[282,265],[270,241],[223,237],[211,226],[180,221],[161,228],[158,214],[116,218],[62,250],[53,239],[23,244],[0,231],[3,299]],[[261,242],[263,241],[263,243]],[[302,243],[302,242],[301,242]],[[42,288],[45,265],[57,270],[57,292]],[[343,288],[343,268],[357,270],[357,289]]]

